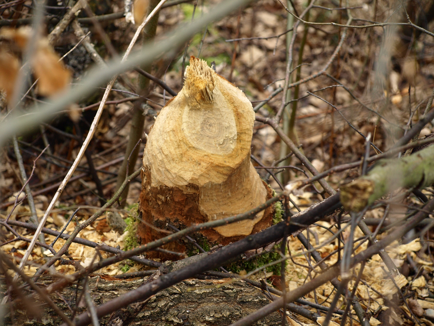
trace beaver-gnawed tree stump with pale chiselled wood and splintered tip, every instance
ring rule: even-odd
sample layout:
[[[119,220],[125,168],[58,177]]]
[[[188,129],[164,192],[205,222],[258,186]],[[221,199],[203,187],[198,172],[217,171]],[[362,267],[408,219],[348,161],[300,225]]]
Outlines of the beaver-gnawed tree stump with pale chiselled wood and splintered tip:
[[[271,198],[250,162],[254,120],[244,93],[191,57],[184,87],[161,110],[148,136],[139,200],[142,243],[163,235],[149,224],[184,228],[244,213]],[[270,226],[272,215],[269,208],[201,234],[210,243],[227,244]],[[181,243],[167,248],[185,249]]]

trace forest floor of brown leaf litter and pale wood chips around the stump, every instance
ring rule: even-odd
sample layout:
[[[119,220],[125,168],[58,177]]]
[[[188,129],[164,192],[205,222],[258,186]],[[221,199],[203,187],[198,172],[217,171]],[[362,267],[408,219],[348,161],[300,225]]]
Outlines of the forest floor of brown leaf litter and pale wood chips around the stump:
[[[163,38],[164,33],[173,30],[180,23],[192,20],[193,13],[194,17],[200,17],[202,13],[207,13],[210,7],[217,2],[215,0],[199,1],[196,2],[196,7],[191,1],[164,8],[158,19],[156,39]],[[123,12],[124,4],[122,1],[90,1],[90,3],[95,15]],[[339,3],[337,1],[336,3],[334,1],[319,1],[316,4],[334,8],[342,7]],[[348,3],[349,6],[355,8],[351,10],[352,16],[356,18],[353,20],[353,24],[362,20],[382,22],[393,11],[393,8],[389,7],[391,5],[385,1],[375,1],[375,5],[374,3],[362,3],[362,1],[355,0]],[[294,1],[294,4],[298,13],[301,13],[306,7],[302,1]],[[2,13],[3,18],[13,14],[11,8],[13,9],[10,7],[9,11]],[[24,9],[21,18],[26,18],[26,10]],[[55,10],[50,14],[53,17],[61,17],[64,12]],[[84,14],[81,16],[85,17]],[[405,21],[404,16],[396,16],[394,17],[395,21]],[[326,10],[317,7],[310,11],[308,20],[317,23],[345,24],[348,15],[345,10]],[[47,24],[48,31],[54,26],[55,23],[49,22]],[[127,23],[125,18],[119,18],[102,21],[101,26],[115,50],[118,53],[123,53],[135,32],[134,25]],[[82,23],[82,27],[85,32],[90,31],[95,49],[105,60],[108,60],[110,55],[106,51],[101,37],[95,32],[92,23]],[[429,23],[425,28],[432,31],[434,23]],[[283,87],[286,74],[286,37],[288,34],[285,31],[288,29],[287,12],[278,1],[256,1],[246,9],[239,10],[239,12],[233,13],[223,20],[208,25],[206,33],[204,30],[198,31],[188,45],[185,62],[188,63],[188,58],[193,55],[206,60],[210,65],[215,63],[217,73],[243,90],[254,107],[262,100],[269,99],[279,87]],[[296,71],[291,75],[292,81],[302,80],[326,67],[324,73],[319,77],[301,83],[296,95],[294,95],[294,88],[289,94],[291,99],[293,96],[299,98],[298,101],[293,102],[296,109],[296,136],[293,138],[319,172],[361,159],[365,153],[365,139],[358,132],[364,135],[371,133],[373,143],[378,147],[378,150],[384,151],[390,148],[402,136],[403,129],[400,127],[408,125],[410,114],[413,114],[412,123],[416,123],[423,115],[427,98],[434,87],[434,39],[431,36],[424,33],[420,35],[413,33],[410,34],[409,39],[405,39],[401,35],[406,31],[401,27],[349,29],[338,55],[329,64],[328,62],[338,46],[344,30],[342,27],[327,24],[313,26],[300,24],[297,28],[298,36],[294,45],[293,67],[302,65],[299,66],[298,77]],[[388,37],[385,37],[385,31],[390,33]],[[71,50],[78,41],[79,39],[74,35],[72,28],[68,27],[58,44],[55,44],[54,49],[62,56]],[[303,43],[304,45],[302,45]],[[179,49],[178,56],[170,63],[160,60],[155,62],[153,66],[154,74],[176,92],[182,87],[184,51],[185,48]],[[302,58],[299,58],[301,52]],[[383,52],[387,53],[384,54]],[[384,63],[381,61],[383,60],[382,56],[388,57],[385,63],[387,68],[381,66]],[[89,53],[82,46],[76,47],[69,53],[64,62],[72,72],[73,83],[80,83],[86,69],[93,65]],[[338,80],[341,85],[338,85],[333,78]],[[133,85],[134,88],[138,82],[138,73],[135,71],[124,73],[120,82],[124,86]],[[89,108],[88,106],[101,100],[103,91],[103,89],[95,88],[92,96],[78,103],[80,107],[85,108],[85,110],[80,111],[78,124],[74,124],[68,114],[59,114],[47,122],[49,125],[18,138],[28,175],[32,170],[33,160],[46,146],[46,142],[50,145],[50,151],[37,160],[36,170],[29,183],[34,194],[39,218],[43,216],[59,182],[78,154],[81,143],[77,141],[76,136],[81,138],[89,130],[97,107]],[[319,97],[309,95],[306,93],[307,91]],[[133,95],[112,91],[109,101],[135,96],[134,91],[131,93]],[[43,100],[41,97],[38,99],[33,96],[28,97],[29,103]],[[149,133],[155,116],[171,97],[160,86],[155,85],[146,102],[144,133]],[[272,116],[279,110],[281,103],[282,93],[279,93],[268,100],[257,111],[256,115]],[[107,104],[93,141],[89,146],[93,164],[96,169],[101,171],[98,172],[98,177],[103,185],[105,199],[111,198],[115,191],[117,171],[122,164],[131,128],[131,121],[128,117],[131,117],[132,106],[132,101]],[[291,103],[285,113],[288,120],[292,111],[293,104]],[[50,126],[56,129],[50,128]],[[77,130],[77,126],[80,130]],[[434,125],[428,124],[419,137],[433,132]],[[65,133],[73,136],[65,135]],[[145,139],[144,134],[139,153],[143,153]],[[283,142],[271,126],[259,122],[255,123],[252,155],[263,166],[273,166],[277,160],[289,153],[286,146],[282,144]],[[375,152],[377,150],[372,147],[371,155]],[[253,164],[259,166],[256,162]],[[298,168],[298,170],[295,168],[274,170],[283,185],[290,181],[304,180],[306,175],[310,176],[302,163],[292,156],[281,165]],[[141,154],[136,162],[136,169],[140,166]],[[69,216],[80,207],[77,213],[78,220],[72,221],[66,227],[66,232],[71,232],[76,222],[86,220],[101,206],[102,200],[96,193],[95,182],[87,173],[86,158],[82,159],[80,167],[82,170],[77,170],[74,174],[74,180],[68,183],[60,200],[56,203],[56,207],[46,223],[47,228],[61,230],[66,225]],[[301,173],[300,170],[303,170],[304,173]],[[258,173],[276,192],[282,191],[279,183],[269,173],[263,169],[258,169]],[[326,180],[337,189],[340,184],[353,180],[360,173],[361,167],[357,167],[331,174],[326,177]],[[124,219],[128,220],[135,217],[135,204],[138,202],[141,192],[140,182],[140,178],[132,182],[125,209],[113,209]],[[15,196],[21,186],[18,163],[13,146],[9,144],[2,149],[0,154],[1,218],[5,219],[10,213]],[[318,183],[314,183],[314,186],[306,186],[297,195],[291,194],[291,198],[303,210],[323,200],[323,197],[316,190],[322,191]],[[434,194],[434,188],[430,187],[422,192],[431,198]],[[401,202],[391,203],[388,207],[387,222],[390,224],[403,218],[408,213],[409,208],[419,205],[421,202],[415,196],[409,196]],[[291,209],[296,211],[294,207]],[[123,249],[125,247],[125,234],[119,234],[118,231],[112,230],[106,223],[108,213],[102,215],[92,226],[79,233],[79,237],[96,243],[103,242],[113,247],[119,246]],[[367,224],[371,226],[373,231],[384,213],[385,206],[380,206],[365,214],[366,220],[371,222]],[[30,208],[24,201],[14,208],[10,218],[27,221],[29,215]],[[346,219],[348,223],[347,215],[343,215],[342,218],[344,221]],[[325,262],[329,265],[336,263],[339,258],[338,254],[335,253],[338,244],[335,239],[330,240],[330,238],[334,231],[339,230],[340,227],[345,230],[342,235],[343,239],[348,238],[349,231],[346,231],[345,225],[344,223],[338,227],[336,216],[334,216],[332,219],[321,221],[310,227],[309,232],[304,232],[321,256],[326,258]],[[4,227],[2,227],[1,232],[2,241],[12,240],[14,237],[13,233]],[[28,233],[24,228],[16,228],[16,232],[23,236]],[[428,241],[418,238],[411,239],[409,235],[411,241],[408,243],[397,242],[388,247],[387,251],[400,271],[400,274],[395,276],[393,281],[385,273],[384,263],[378,255],[366,264],[362,283],[358,285],[356,295],[359,297],[362,307],[369,313],[372,326],[380,324],[413,325],[414,317],[412,316],[414,315],[418,316],[419,322],[425,325],[434,325],[434,257],[432,252],[434,247],[432,240],[430,240],[432,239],[431,235],[432,230],[428,231],[426,235],[425,240]],[[357,228],[354,239],[360,239],[362,236],[362,231]],[[380,239],[381,236],[379,234],[378,238]],[[46,243],[51,243],[54,238],[54,236],[46,235]],[[65,240],[59,239],[54,249],[60,249],[64,242]],[[366,249],[367,246],[368,243],[364,242],[355,250],[355,253]],[[23,257],[26,247],[26,242],[15,241],[3,245],[2,249],[15,257],[16,262],[18,262]],[[291,290],[311,278],[312,269],[309,267],[310,255],[303,251],[299,240],[291,236],[289,248],[292,259],[288,261],[286,267],[286,285]],[[27,275],[33,275],[39,266],[38,264],[46,259],[43,255],[44,252],[45,255],[50,255],[45,249],[33,250],[30,258],[33,265],[25,268]],[[82,266],[88,266],[95,256],[95,249],[73,243],[69,253],[73,259],[81,261]],[[109,254],[102,253],[102,256],[107,257]],[[63,274],[75,272],[74,266],[61,265],[59,262],[56,263],[55,268],[57,272]],[[144,266],[137,263],[116,263],[101,269],[99,274],[114,276],[143,268]],[[358,273],[358,269],[356,268],[354,272]],[[10,270],[10,274],[13,275],[12,270]],[[252,276],[253,279],[262,277],[264,277],[263,273]],[[273,272],[266,273],[266,278],[273,285],[280,286]],[[351,283],[349,286],[351,288]],[[324,284],[314,292],[309,293],[306,300],[325,306],[330,305],[330,296],[333,292],[333,286],[330,283]],[[404,299],[401,296],[404,296]],[[339,300],[338,309],[345,309],[345,307],[342,308],[343,298]],[[398,307],[396,310],[399,311],[398,313],[392,313],[395,310],[388,309],[392,304]],[[388,313],[384,313],[385,311]],[[312,323],[312,321],[302,317],[299,321],[304,324]],[[336,322],[339,323],[338,316]],[[357,325],[358,321],[347,320],[347,324],[350,323]],[[295,322],[294,325],[296,325]]]

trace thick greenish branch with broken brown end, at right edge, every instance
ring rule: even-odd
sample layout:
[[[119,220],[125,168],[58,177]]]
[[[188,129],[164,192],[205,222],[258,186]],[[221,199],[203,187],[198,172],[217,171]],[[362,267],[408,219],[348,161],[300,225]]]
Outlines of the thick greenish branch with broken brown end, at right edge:
[[[366,176],[341,186],[341,203],[345,210],[359,212],[400,187],[423,188],[432,183],[434,146],[429,146],[401,159],[378,161]]]

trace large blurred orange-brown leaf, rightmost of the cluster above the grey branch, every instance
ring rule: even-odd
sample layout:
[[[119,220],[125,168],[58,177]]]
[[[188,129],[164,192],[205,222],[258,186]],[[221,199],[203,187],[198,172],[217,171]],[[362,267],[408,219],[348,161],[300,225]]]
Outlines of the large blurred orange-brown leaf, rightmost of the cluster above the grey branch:
[[[39,78],[39,94],[50,96],[64,89],[71,79],[71,73],[59,62],[59,56],[44,40],[33,56],[33,70]]]

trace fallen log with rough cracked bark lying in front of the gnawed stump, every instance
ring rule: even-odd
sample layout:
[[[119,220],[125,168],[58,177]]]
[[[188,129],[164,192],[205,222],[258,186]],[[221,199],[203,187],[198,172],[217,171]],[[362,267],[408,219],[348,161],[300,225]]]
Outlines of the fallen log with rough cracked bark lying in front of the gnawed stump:
[[[96,277],[89,278],[89,288],[97,305],[145,283],[143,279],[122,281],[99,279],[96,283],[96,279]],[[53,282],[48,277],[41,278],[40,281],[46,285]],[[100,324],[112,326],[226,326],[269,303],[259,289],[246,282],[237,281],[217,288],[219,283],[222,283],[222,280],[185,280],[159,292],[145,302],[132,304],[127,308],[119,309],[112,316],[101,318]],[[1,290],[5,289],[6,286],[2,283]],[[67,287],[60,295],[69,302],[73,309],[77,298],[76,286]],[[50,297],[68,317],[71,316],[69,308],[60,296],[53,294]],[[79,306],[81,307],[78,313],[84,312],[85,307],[82,303],[79,303]],[[48,306],[42,305],[40,308],[41,316],[34,319],[29,319],[23,310],[15,310],[13,323],[8,314],[5,318],[5,325],[56,326],[62,323],[59,316],[56,316],[56,313]],[[255,325],[277,326],[281,322],[280,314],[275,312]]]

